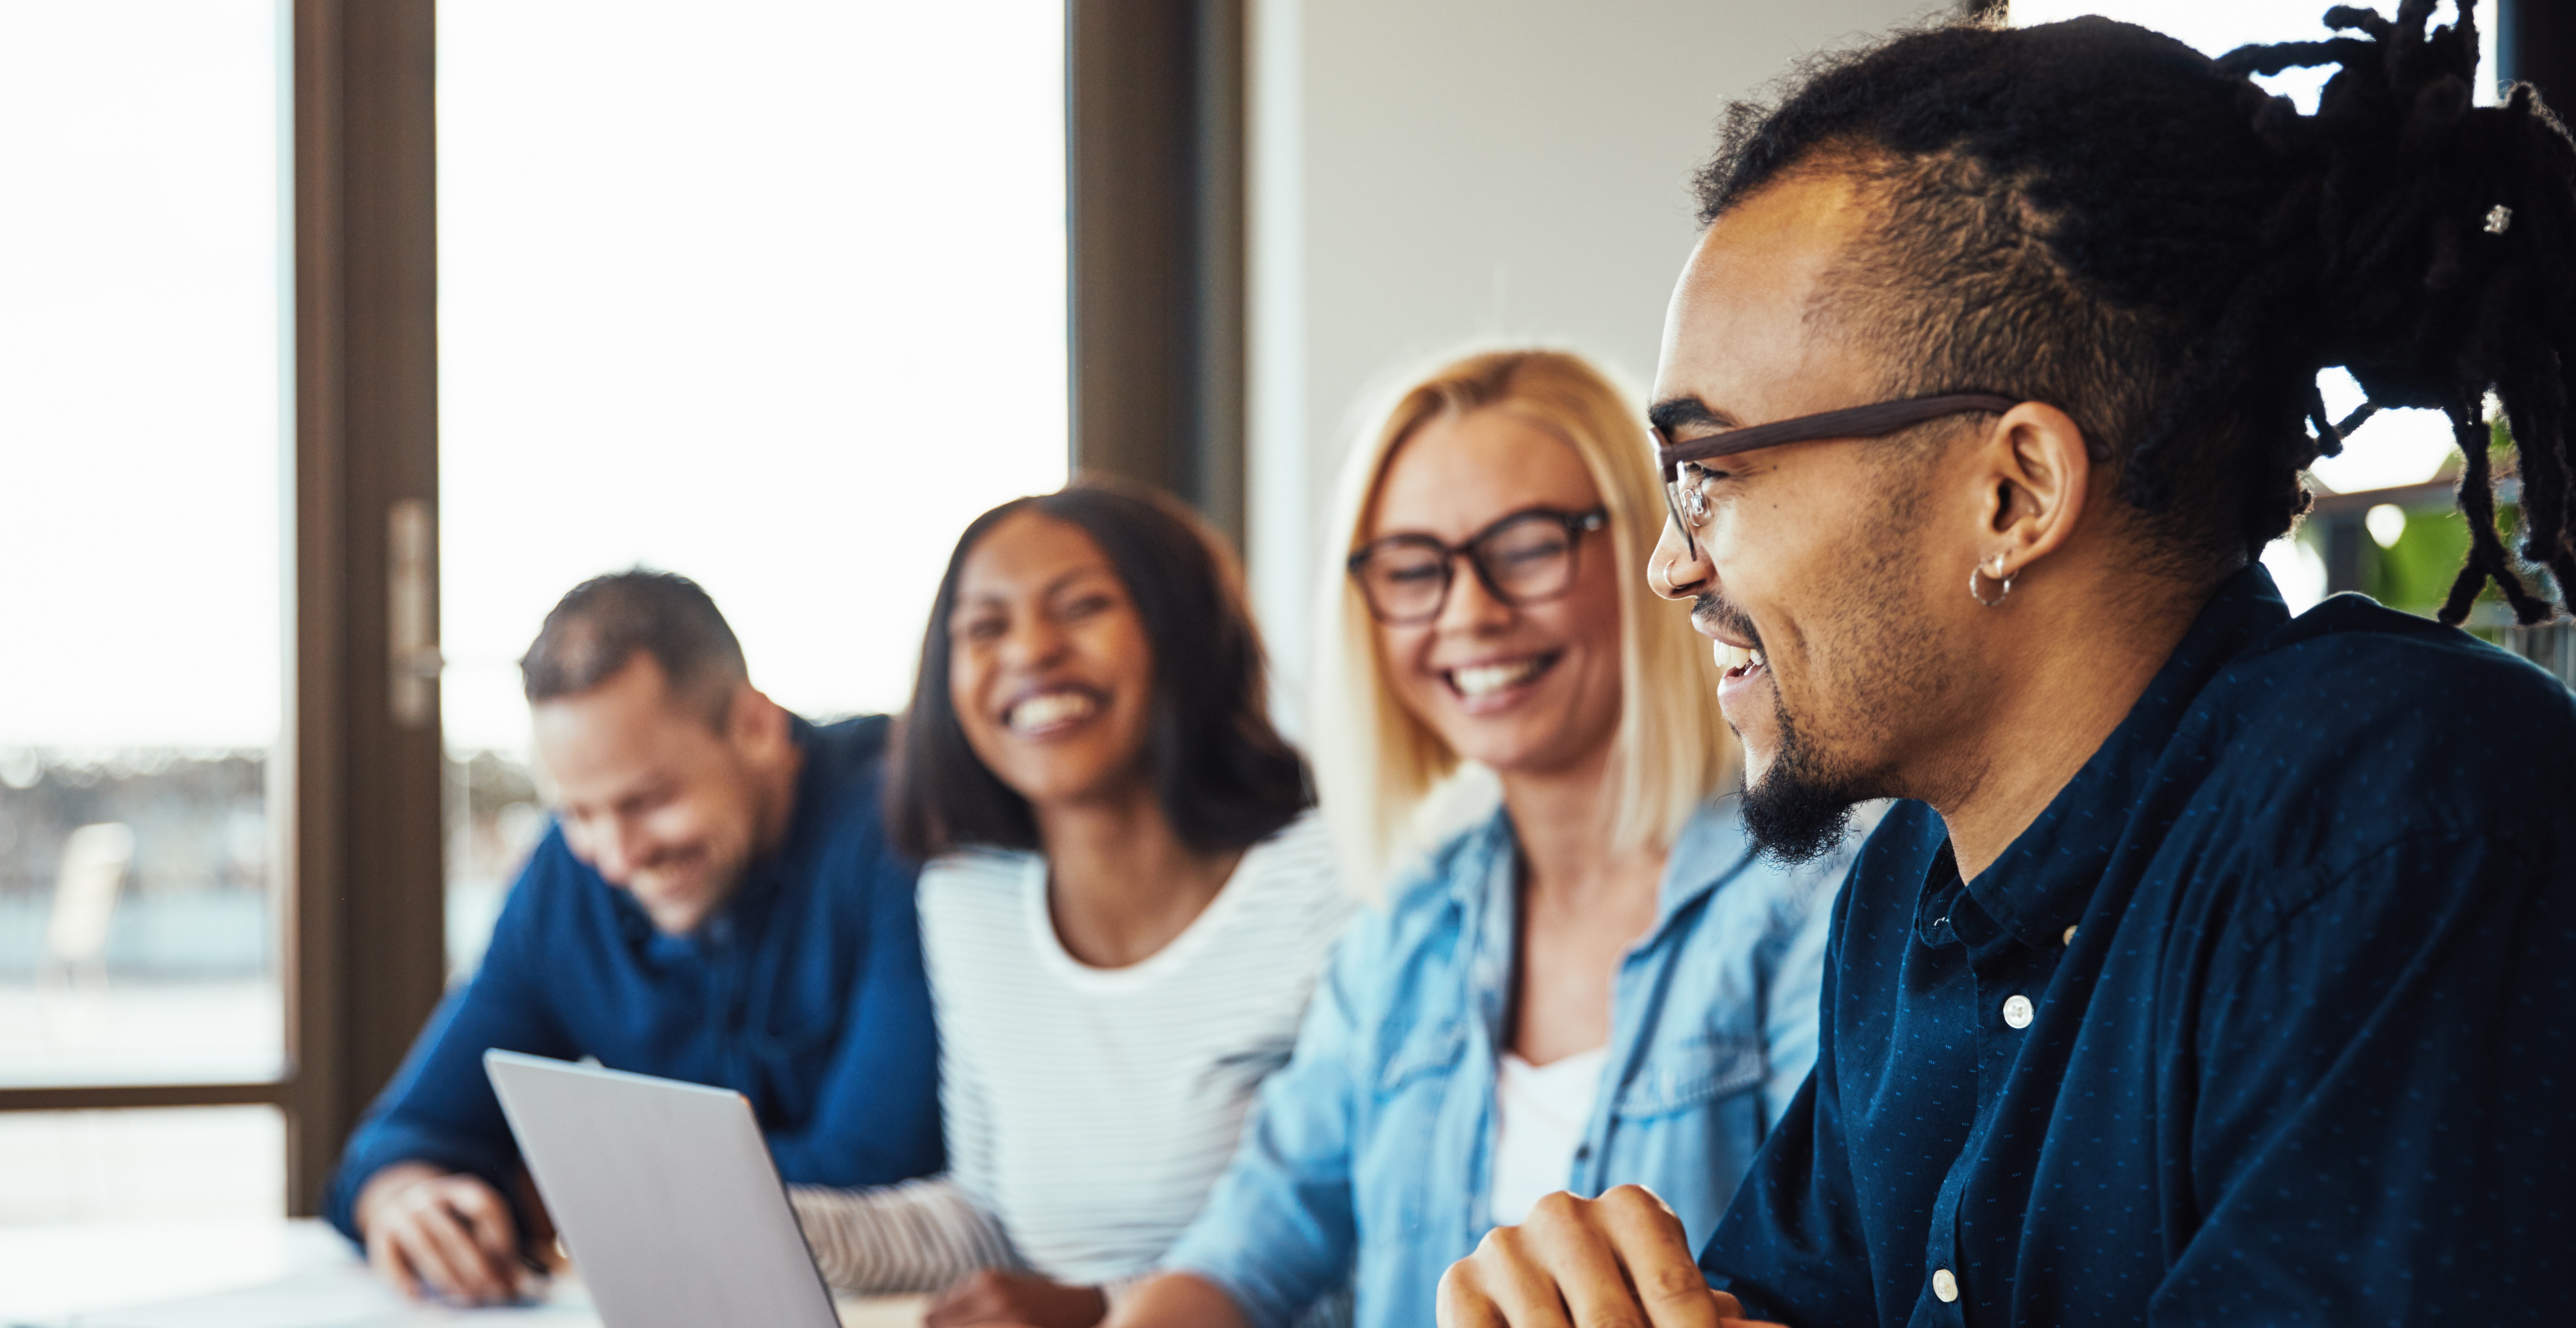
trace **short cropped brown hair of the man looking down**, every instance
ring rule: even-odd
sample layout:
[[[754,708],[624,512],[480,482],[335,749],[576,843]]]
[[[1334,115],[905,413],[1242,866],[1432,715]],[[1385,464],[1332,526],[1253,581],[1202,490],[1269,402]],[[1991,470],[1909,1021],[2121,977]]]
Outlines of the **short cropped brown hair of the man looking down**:
[[[734,688],[750,681],[742,642],[706,588],[649,567],[574,585],[546,614],[546,627],[518,660],[518,676],[533,707],[605,683],[639,652],[662,665],[672,699],[690,701],[719,730]]]

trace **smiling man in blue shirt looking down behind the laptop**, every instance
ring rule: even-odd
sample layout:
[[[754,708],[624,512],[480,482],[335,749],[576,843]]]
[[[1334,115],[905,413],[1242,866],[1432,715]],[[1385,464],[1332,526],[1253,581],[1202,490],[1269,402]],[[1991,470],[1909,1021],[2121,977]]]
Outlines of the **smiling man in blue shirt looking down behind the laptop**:
[[[940,1171],[912,864],[878,815],[886,717],[788,714],[706,591],[641,567],[572,588],[520,676],[554,825],[350,1137],[332,1225],[412,1294],[526,1287],[544,1212],[492,1047],[734,1088],[793,1184]]]

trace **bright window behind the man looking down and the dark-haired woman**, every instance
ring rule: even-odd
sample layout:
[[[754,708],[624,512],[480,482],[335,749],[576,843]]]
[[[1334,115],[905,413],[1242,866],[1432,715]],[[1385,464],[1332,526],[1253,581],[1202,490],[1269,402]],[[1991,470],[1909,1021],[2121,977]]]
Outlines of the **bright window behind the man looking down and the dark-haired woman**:
[[[685,572],[788,709],[896,709],[956,534],[1064,482],[1064,5],[446,0],[438,278],[464,970],[564,591]]]

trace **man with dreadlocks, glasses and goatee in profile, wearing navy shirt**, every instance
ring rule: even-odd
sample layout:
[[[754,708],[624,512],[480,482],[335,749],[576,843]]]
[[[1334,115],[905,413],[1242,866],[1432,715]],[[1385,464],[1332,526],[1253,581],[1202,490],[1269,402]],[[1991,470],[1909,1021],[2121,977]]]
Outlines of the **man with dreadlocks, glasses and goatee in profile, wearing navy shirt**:
[[[2218,62],[1924,31],[1731,119],[1651,575],[1734,665],[1772,848],[1911,802],[1705,1251],[1561,1194],[1443,1323],[2576,1323],[2576,699],[2447,627],[2550,611],[2488,392],[2576,591],[2576,150],[2527,88],[2473,108],[2432,8]],[[2246,77],[2329,62],[2316,116]],[[2445,624],[2290,619],[2254,562],[2336,364],[2458,425]]]

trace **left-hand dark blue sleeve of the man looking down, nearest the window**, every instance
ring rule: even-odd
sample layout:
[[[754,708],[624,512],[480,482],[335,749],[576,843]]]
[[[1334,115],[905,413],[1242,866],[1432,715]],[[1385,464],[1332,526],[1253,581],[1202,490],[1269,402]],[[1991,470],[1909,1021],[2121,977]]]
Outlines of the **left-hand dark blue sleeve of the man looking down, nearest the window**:
[[[549,830],[528,866],[510,887],[510,903],[492,926],[492,946],[482,970],[461,990],[438,1003],[438,1013],[412,1042],[402,1070],[376,1096],[358,1129],[350,1132],[332,1173],[322,1215],[340,1235],[358,1240],[355,1202],[366,1181],[392,1163],[433,1163],[471,1171],[492,1189],[513,1194],[520,1168],[510,1122],[500,1114],[482,1055],[489,1047],[572,1060],[562,1021],[544,1001],[544,933],[562,921],[549,918],[562,903],[577,864],[562,833]]]

